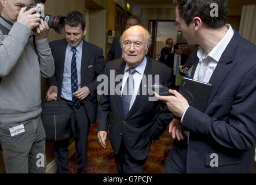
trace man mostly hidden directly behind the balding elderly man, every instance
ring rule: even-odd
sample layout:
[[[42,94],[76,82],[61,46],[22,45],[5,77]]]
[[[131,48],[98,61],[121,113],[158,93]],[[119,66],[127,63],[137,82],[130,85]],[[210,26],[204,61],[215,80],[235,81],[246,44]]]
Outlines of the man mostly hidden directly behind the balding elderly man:
[[[130,16],[126,20],[126,29],[138,25],[139,20],[136,16]],[[108,56],[106,62],[122,58],[122,48],[120,45],[120,36],[115,36],[111,44],[110,50],[108,51]]]

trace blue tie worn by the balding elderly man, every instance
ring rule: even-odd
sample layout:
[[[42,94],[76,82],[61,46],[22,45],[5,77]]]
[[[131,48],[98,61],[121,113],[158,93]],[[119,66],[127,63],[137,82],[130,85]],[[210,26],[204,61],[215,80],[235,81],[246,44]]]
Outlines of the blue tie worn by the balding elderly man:
[[[123,87],[123,94],[122,94],[122,108],[123,108],[123,116],[126,117],[129,109],[131,98],[133,97],[133,75],[136,73],[136,69],[128,69],[129,70],[129,77],[126,80],[125,87]]]

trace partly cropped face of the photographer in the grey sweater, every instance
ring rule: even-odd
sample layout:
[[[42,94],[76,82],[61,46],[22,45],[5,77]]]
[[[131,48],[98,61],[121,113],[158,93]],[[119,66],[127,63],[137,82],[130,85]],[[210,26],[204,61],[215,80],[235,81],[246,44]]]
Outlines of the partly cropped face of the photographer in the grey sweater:
[[[2,13],[6,20],[11,23],[15,23],[17,21],[17,17],[20,13],[20,9],[30,5],[32,0],[0,0],[2,4]]]

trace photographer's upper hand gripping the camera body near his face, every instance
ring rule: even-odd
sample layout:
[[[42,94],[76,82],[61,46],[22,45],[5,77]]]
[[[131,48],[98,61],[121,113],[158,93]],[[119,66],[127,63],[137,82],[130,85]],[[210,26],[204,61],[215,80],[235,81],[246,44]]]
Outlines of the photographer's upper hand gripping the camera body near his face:
[[[20,13],[17,17],[17,23],[24,24],[32,30],[33,28],[38,27],[40,24],[39,22],[41,15],[39,13],[35,13],[40,9],[35,7],[25,11],[26,8],[27,6],[20,9]]]

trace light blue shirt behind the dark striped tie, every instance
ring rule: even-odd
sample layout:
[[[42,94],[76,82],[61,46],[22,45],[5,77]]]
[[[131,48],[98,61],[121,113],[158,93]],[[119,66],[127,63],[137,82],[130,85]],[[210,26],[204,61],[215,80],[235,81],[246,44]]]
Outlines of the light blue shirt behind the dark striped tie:
[[[82,60],[82,50],[83,50],[83,40],[79,43],[76,48],[76,69],[78,72],[78,89],[81,88],[81,60]],[[73,56],[72,47],[67,44],[66,54],[65,54],[65,64],[63,71],[63,82],[61,88],[61,98],[72,101],[72,90],[71,90],[71,60]]]

